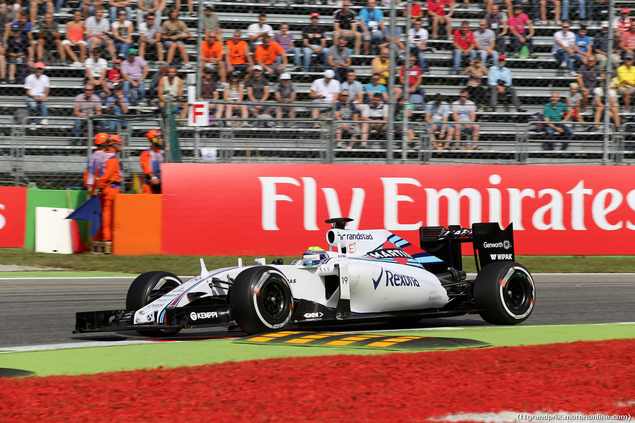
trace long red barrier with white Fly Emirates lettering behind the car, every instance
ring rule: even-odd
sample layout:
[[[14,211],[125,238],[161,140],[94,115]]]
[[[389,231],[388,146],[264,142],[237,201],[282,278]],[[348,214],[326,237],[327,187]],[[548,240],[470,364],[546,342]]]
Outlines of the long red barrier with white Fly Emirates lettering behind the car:
[[[329,217],[418,245],[418,227],[514,222],[517,254],[635,254],[630,166],[164,164],[163,253],[296,255]]]

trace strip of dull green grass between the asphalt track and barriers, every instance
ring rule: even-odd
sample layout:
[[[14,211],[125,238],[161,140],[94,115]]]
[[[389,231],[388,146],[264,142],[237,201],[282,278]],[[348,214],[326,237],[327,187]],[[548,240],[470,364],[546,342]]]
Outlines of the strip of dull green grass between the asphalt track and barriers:
[[[263,256],[243,256],[243,264],[253,264],[254,258]],[[281,257],[290,264],[295,257]],[[267,263],[277,258],[265,256]],[[138,274],[153,270],[166,270],[179,275],[198,274],[198,261],[194,255],[150,255],[115,256],[86,254],[36,253],[22,248],[0,248],[0,264],[39,265],[58,267],[72,271],[127,272]],[[203,256],[208,269],[237,265],[236,256]],[[517,255],[516,261],[525,265],[533,273],[631,273],[635,272],[635,256],[531,256]],[[464,269],[474,272],[474,257],[463,258]]]

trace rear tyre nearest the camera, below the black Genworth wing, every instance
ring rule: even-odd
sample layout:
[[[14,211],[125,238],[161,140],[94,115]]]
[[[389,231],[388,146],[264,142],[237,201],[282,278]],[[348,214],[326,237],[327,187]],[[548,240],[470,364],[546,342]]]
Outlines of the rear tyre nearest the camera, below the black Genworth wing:
[[[474,281],[474,303],[492,325],[516,325],[533,311],[536,288],[530,272],[516,262],[491,263]]]

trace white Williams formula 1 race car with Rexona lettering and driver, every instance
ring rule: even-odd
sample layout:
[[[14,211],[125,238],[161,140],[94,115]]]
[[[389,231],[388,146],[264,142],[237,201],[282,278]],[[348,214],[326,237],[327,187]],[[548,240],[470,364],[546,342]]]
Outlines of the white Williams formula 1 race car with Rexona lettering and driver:
[[[130,285],[125,310],[77,312],[74,332],[155,336],[235,322],[251,334],[476,313],[493,325],[514,325],[533,311],[533,278],[514,262],[511,224],[421,227],[417,248],[384,229],[345,229],[351,220],[326,220],[333,225],[329,250],[311,247],[288,265],[260,258],[208,271],[201,258],[201,274],[185,282],[170,272],[144,273]],[[462,243],[472,243],[476,279],[466,280],[462,270]]]

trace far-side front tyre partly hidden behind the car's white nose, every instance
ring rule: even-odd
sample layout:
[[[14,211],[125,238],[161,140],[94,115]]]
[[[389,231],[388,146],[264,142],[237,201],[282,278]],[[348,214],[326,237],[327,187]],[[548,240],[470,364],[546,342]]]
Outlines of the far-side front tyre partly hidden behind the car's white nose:
[[[154,271],[140,274],[128,288],[126,309],[141,309],[181,284],[181,279],[170,272]],[[147,337],[171,336],[180,332],[180,329],[146,329],[137,332]]]

